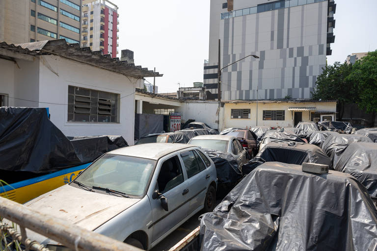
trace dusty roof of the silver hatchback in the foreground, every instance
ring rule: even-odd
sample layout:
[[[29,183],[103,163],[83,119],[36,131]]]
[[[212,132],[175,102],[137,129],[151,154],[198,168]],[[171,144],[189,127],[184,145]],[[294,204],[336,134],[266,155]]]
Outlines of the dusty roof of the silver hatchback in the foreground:
[[[192,147],[192,145],[179,143],[147,143],[131,147],[119,148],[113,151],[109,151],[108,154],[127,155],[157,160],[172,152]]]

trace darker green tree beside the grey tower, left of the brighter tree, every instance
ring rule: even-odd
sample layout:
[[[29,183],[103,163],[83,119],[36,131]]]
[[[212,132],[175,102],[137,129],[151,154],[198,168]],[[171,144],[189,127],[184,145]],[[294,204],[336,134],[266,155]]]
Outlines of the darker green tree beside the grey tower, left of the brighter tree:
[[[344,114],[345,103],[358,101],[358,89],[354,81],[349,79],[352,72],[352,65],[335,62],[333,65],[326,65],[321,75],[317,77],[316,88],[312,92],[315,100],[338,100],[339,118]]]

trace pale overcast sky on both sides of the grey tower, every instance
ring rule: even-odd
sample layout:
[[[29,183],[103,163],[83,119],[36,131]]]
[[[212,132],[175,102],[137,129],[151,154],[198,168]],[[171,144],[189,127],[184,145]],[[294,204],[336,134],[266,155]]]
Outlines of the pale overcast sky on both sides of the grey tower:
[[[225,0],[224,0],[225,1]],[[119,7],[119,53],[134,51],[135,64],[163,74],[159,93],[203,82],[208,59],[210,0],[112,0]],[[377,0],[335,0],[335,43],[329,64],[352,52],[377,49]],[[120,55],[118,55],[120,56]],[[153,78],[147,78],[153,83]]]

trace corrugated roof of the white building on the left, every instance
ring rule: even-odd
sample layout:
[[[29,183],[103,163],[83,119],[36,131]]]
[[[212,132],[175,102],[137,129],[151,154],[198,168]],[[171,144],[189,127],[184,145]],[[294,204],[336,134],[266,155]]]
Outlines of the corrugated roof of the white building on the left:
[[[148,70],[148,68],[135,66],[135,64],[129,64],[127,61],[120,61],[119,58],[112,58],[110,54],[102,55],[101,51],[91,51],[89,47],[80,48],[79,44],[68,44],[65,39],[46,40],[17,45],[1,42],[0,48],[33,56],[46,54],[57,55],[133,77],[162,76],[162,74],[158,72],[154,73],[153,71]]]

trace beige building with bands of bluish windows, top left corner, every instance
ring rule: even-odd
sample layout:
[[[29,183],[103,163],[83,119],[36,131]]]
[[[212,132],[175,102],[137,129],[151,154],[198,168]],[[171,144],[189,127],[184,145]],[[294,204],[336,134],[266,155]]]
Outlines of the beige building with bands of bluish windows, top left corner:
[[[0,41],[80,43],[82,0],[1,0]]]

